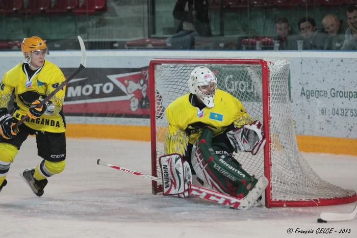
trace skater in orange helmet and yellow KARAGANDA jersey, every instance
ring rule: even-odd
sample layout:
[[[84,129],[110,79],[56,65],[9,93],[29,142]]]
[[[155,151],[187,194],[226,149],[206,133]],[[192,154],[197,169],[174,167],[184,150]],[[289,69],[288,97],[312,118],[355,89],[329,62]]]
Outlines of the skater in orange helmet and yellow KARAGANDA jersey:
[[[6,72],[0,84],[0,191],[7,184],[6,175],[22,143],[29,135],[36,135],[37,154],[43,160],[35,168],[24,170],[22,177],[37,196],[42,196],[47,178],[65,167],[62,111],[65,88],[42,107],[36,105],[64,82],[65,77],[55,64],[45,61],[48,48],[40,37],[24,38],[21,50],[24,63]],[[14,108],[10,113],[8,104],[12,95]],[[29,119],[14,130],[14,124],[25,115]]]

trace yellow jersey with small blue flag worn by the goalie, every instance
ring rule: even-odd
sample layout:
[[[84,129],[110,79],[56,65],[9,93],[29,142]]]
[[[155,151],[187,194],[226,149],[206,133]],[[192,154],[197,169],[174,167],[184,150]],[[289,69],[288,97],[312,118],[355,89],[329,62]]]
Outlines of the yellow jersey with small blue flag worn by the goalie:
[[[165,153],[185,155],[187,144],[194,144],[205,127],[213,130],[214,136],[222,133],[227,126],[240,127],[251,123],[243,104],[231,94],[217,90],[214,107],[202,110],[190,102],[190,93],[174,100],[166,109],[168,120]]]

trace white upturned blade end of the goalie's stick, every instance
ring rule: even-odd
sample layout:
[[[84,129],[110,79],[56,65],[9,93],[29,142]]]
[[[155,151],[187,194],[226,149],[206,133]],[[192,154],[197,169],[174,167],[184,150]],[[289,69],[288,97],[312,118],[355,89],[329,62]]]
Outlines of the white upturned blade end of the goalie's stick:
[[[259,205],[257,200],[262,195],[262,193],[264,192],[267,186],[268,186],[268,179],[264,176],[260,177],[256,186],[251,191],[249,191],[247,196],[245,196],[242,199],[238,209],[247,210],[251,206]]]

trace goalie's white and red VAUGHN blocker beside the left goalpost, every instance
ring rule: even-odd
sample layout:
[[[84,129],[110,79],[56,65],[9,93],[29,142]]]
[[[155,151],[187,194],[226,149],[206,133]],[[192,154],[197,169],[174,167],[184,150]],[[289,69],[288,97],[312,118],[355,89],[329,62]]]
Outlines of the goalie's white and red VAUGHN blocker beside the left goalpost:
[[[187,197],[189,184],[192,183],[190,165],[183,162],[180,154],[167,154],[159,158],[163,194]]]

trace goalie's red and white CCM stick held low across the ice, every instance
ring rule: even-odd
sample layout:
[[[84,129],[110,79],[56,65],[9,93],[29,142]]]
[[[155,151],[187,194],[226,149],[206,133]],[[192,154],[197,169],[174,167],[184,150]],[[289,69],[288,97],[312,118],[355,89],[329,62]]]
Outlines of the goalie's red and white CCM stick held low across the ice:
[[[138,172],[138,171],[134,171],[134,170],[131,170],[131,169],[123,168],[123,167],[120,167],[118,165],[114,165],[114,164],[102,161],[100,159],[97,160],[97,165],[107,166],[107,167],[110,167],[110,168],[113,168],[113,169],[124,171],[124,172],[130,173],[130,174],[133,174],[133,175],[138,175],[140,177],[144,177],[144,178],[151,179],[151,180],[156,180],[156,181],[161,180],[158,177],[154,177],[154,176],[151,176],[151,175],[146,175],[146,174],[143,174],[143,173]],[[265,182],[265,180],[263,180],[263,182]],[[258,183],[257,183],[257,185],[258,185]],[[266,184],[264,184],[263,186],[266,187]],[[239,199],[239,198],[228,196],[228,195],[225,195],[225,194],[222,194],[222,193],[210,190],[210,189],[205,189],[205,188],[196,186],[195,184],[192,184],[192,183],[189,184],[188,194],[190,194],[192,196],[195,196],[195,197],[198,197],[198,198],[202,198],[202,199],[211,201],[211,202],[215,202],[215,203],[219,203],[219,204],[222,204],[222,205],[225,205],[225,206],[229,206],[229,207],[232,207],[232,208],[235,208],[235,209],[240,208],[242,210],[243,209],[248,209],[252,205],[252,203],[257,200],[257,199],[255,199],[255,196],[254,196],[254,195],[256,195],[255,193],[251,193],[250,196],[248,194],[246,197],[244,197],[242,199]],[[260,194],[259,194],[259,196],[260,196]]]

